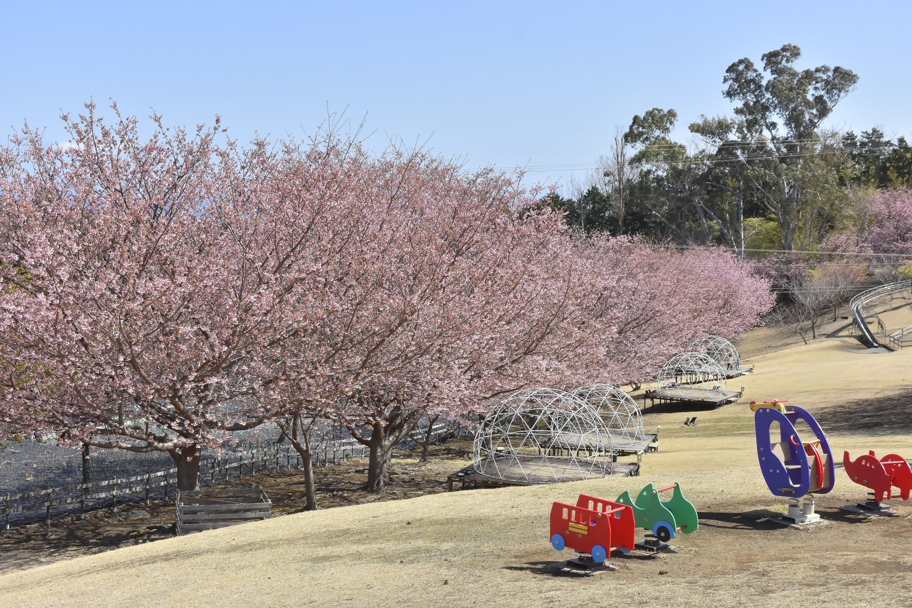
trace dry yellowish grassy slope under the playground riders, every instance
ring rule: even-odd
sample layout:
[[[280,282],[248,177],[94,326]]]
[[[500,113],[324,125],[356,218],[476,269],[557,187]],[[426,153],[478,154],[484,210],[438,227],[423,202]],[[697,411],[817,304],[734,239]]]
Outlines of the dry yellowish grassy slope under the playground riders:
[[[744,404],[788,398],[828,417],[824,428],[838,458],[844,448],[912,454],[908,407],[894,398],[912,378],[912,349],[863,354],[853,340],[828,339],[755,362],[755,374],[732,381],[747,386],[741,404],[700,412],[697,427],[681,427],[683,414],[649,416],[648,427],[662,426],[661,451],[644,459],[638,479],[454,492],[202,532],[5,574],[0,604],[772,605],[802,598],[857,605],[873,600],[873,587],[899,592],[880,605],[902,605],[912,560],[905,550],[884,548],[912,540],[907,518],[865,524],[864,538],[845,523],[808,532],[756,529],[751,512],[782,510],[783,501],[772,498],[756,470]],[[885,407],[894,414],[880,415]],[[869,428],[855,428],[854,412]],[[830,503],[864,496],[839,476],[841,493],[829,495]],[[568,557],[548,545],[553,500],[574,500],[584,490],[612,498],[670,480],[682,482],[704,518],[698,533],[676,541],[679,554],[624,560],[618,572],[589,579],[537,573],[541,563]],[[819,546],[809,544],[814,539]],[[834,563],[853,573],[834,578]],[[790,589],[799,583],[804,593]]]

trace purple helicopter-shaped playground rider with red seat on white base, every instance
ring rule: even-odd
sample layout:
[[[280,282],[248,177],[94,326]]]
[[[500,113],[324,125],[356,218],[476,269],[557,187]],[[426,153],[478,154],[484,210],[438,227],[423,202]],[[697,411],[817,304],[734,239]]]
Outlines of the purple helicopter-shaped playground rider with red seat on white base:
[[[786,403],[779,399],[762,404],[751,401],[760,469],[774,496],[792,499],[787,518],[798,524],[819,521],[820,515],[814,512],[813,494],[825,494],[833,489],[833,452],[814,416],[803,407],[786,406]],[[815,438],[804,441],[795,428],[798,422],[804,422]],[[773,425],[779,428],[778,441],[771,436]]]

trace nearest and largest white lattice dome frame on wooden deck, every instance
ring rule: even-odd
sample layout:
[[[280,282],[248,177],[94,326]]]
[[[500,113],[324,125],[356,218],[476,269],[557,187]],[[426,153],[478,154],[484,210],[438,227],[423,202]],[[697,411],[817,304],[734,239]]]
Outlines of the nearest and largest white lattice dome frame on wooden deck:
[[[472,468],[523,483],[604,478],[612,474],[612,438],[580,397],[529,388],[493,407],[475,434]]]

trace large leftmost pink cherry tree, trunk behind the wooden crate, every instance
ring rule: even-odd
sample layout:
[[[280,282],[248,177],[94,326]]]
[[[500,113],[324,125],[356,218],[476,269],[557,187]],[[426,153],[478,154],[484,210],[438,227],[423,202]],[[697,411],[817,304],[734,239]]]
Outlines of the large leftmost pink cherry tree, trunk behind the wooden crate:
[[[332,305],[315,269],[350,235],[357,155],[330,138],[289,167],[263,141],[218,144],[218,120],[156,116],[142,140],[113,109],[110,127],[93,104],[64,117],[67,146],[26,126],[0,149],[0,417],[167,451],[193,489],[202,448],[287,408],[286,346]]]

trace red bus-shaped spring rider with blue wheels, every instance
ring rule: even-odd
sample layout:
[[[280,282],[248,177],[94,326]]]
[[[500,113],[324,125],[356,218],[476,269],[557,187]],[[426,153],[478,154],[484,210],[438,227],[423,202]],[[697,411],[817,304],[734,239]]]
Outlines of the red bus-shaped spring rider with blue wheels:
[[[634,515],[627,505],[580,494],[576,504],[551,507],[551,546],[592,555],[601,564],[613,551],[633,551]]]

